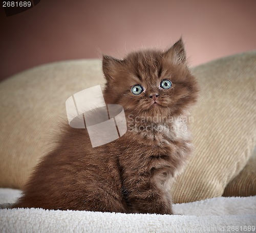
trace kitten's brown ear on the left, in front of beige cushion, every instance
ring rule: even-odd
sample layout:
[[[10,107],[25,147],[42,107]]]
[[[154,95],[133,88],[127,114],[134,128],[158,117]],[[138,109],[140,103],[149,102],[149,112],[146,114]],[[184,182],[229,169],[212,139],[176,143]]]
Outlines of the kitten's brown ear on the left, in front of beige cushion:
[[[122,62],[123,60],[118,60],[114,57],[103,55],[102,69],[107,82],[110,82],[114,79],[116,70],[120,68]]]

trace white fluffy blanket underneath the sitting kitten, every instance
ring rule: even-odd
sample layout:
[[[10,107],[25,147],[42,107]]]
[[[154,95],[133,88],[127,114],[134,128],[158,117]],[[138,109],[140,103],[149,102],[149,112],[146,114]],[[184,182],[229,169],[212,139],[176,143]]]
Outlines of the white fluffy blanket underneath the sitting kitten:
[[[0,203],[20,191],[0,189]],[[253,232],[256,196],[174,204],[177,215],[0,209],[0,232]]]

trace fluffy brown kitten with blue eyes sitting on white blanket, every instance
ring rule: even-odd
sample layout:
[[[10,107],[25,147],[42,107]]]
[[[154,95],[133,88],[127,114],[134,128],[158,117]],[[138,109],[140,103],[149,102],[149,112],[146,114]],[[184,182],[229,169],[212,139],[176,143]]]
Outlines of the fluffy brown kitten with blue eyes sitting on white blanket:
[[[87,130],[68,126],[13,207],[173,214],[170,186],[192,151],[186,117],[198,94],[183,42],[102,64],[105,102],[123,106],[126,133],[93,148]]]

